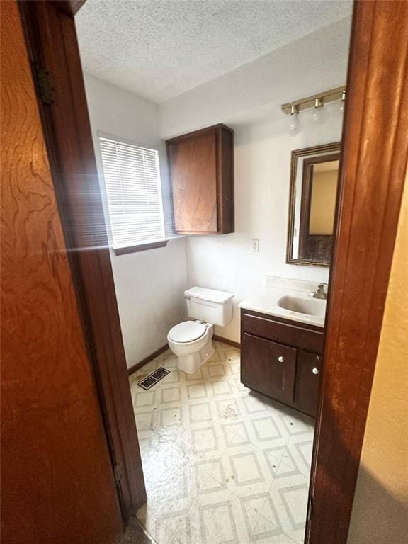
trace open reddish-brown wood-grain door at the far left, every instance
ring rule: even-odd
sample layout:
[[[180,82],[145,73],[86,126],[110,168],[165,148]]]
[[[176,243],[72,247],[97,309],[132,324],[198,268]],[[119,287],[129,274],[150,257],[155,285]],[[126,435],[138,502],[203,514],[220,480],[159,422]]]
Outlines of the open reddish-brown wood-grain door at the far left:
[[[120,510],[18,7],[1,9],[1,540],[111,543]]]

